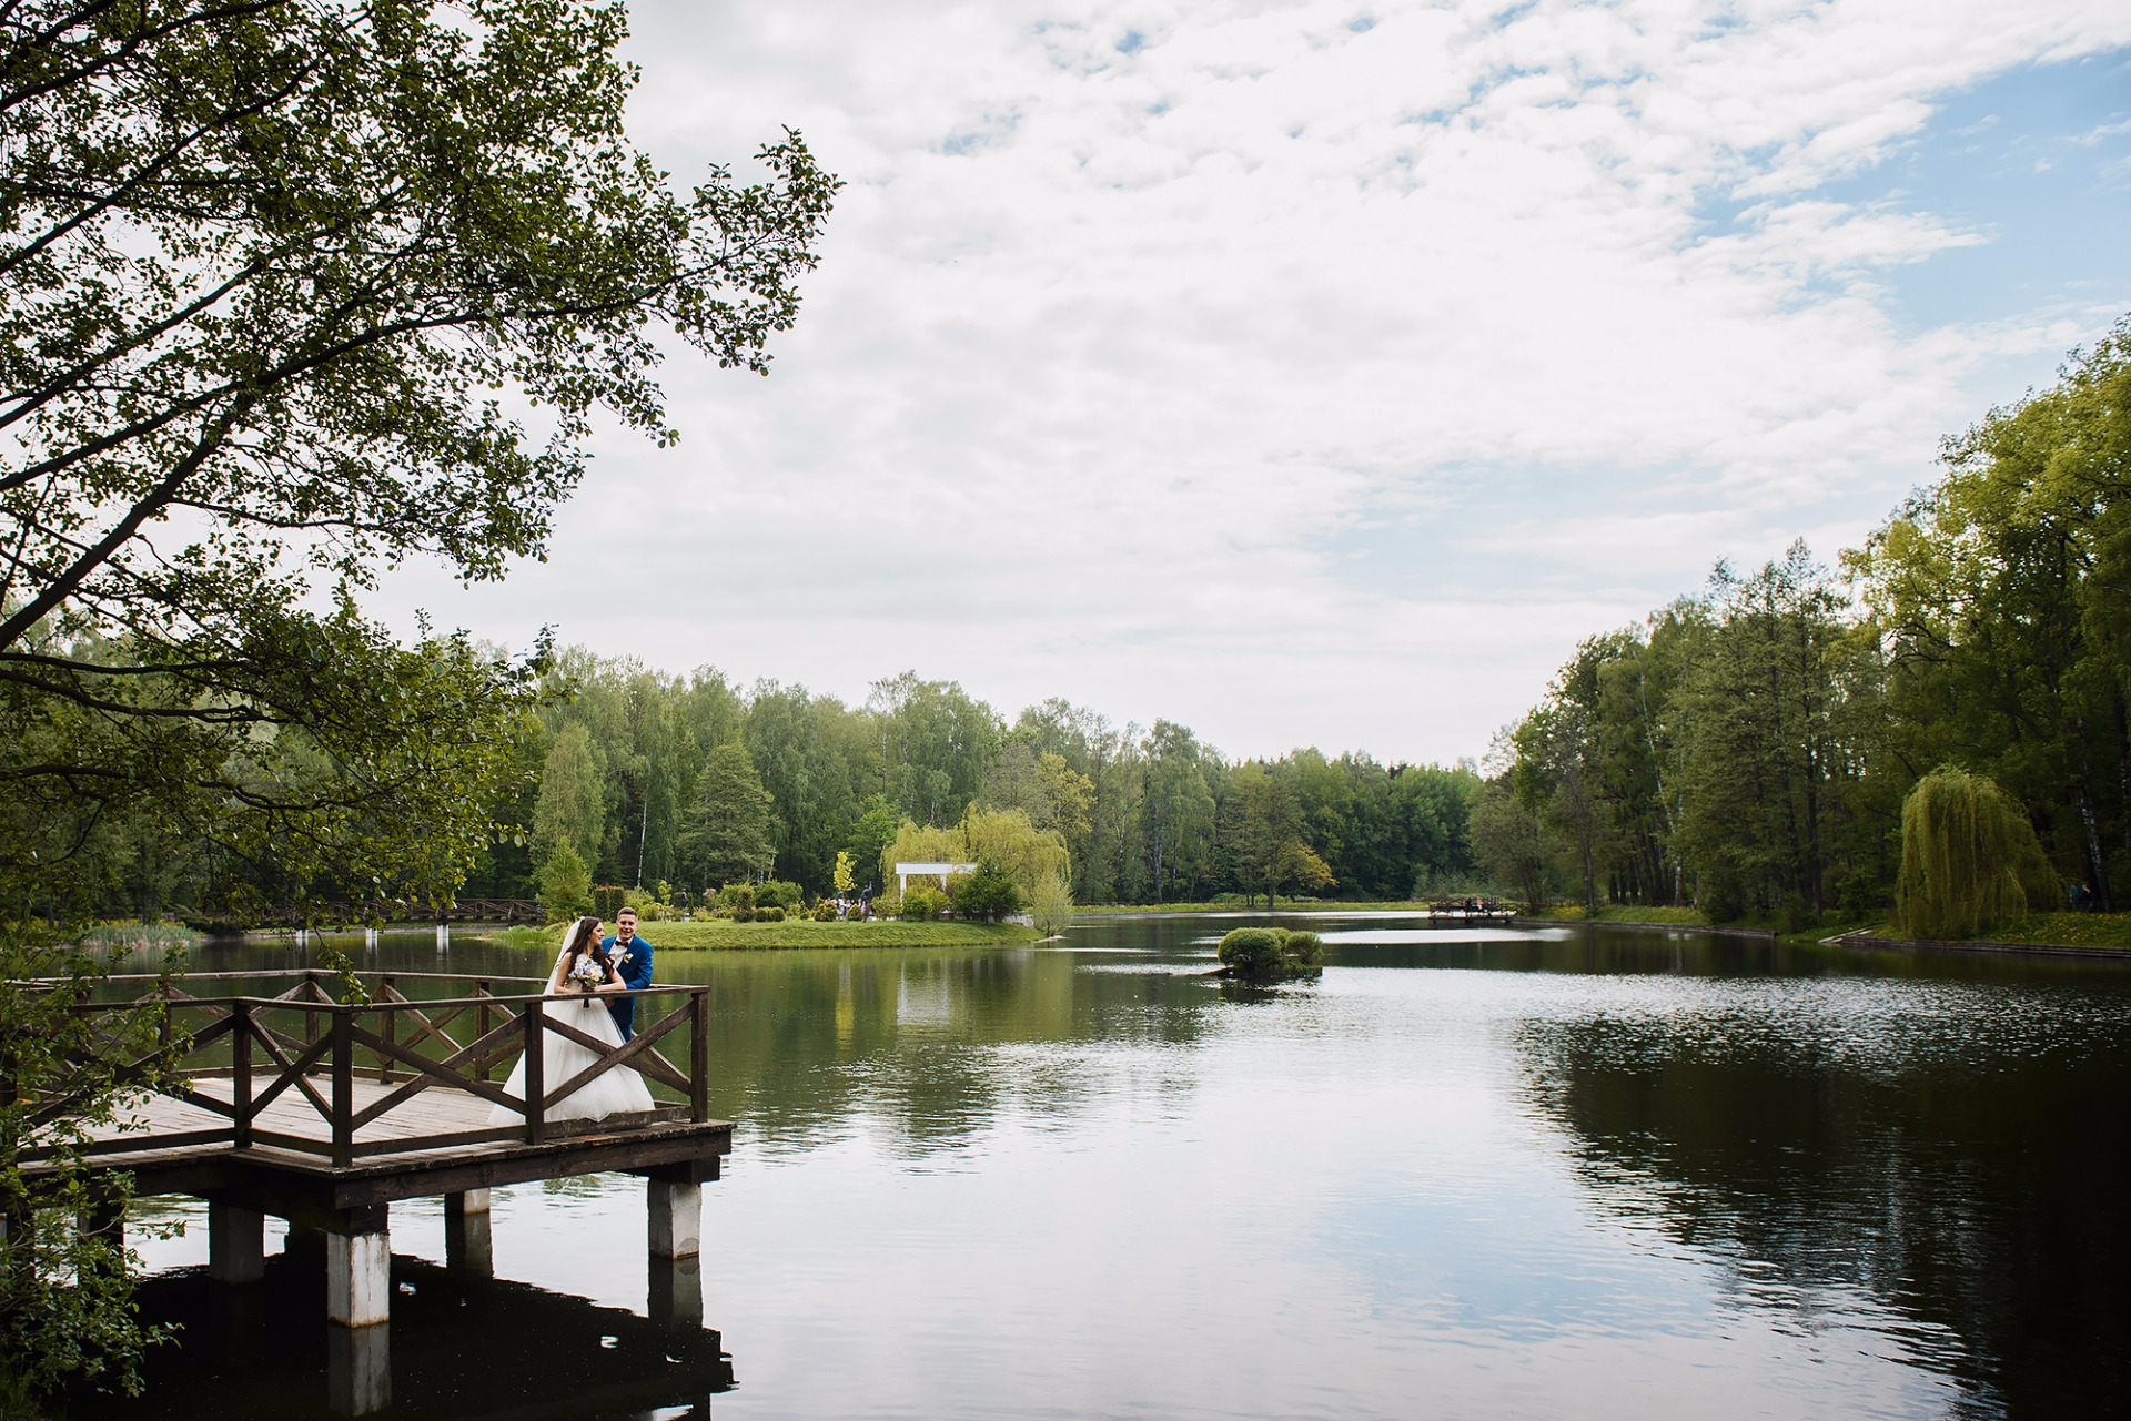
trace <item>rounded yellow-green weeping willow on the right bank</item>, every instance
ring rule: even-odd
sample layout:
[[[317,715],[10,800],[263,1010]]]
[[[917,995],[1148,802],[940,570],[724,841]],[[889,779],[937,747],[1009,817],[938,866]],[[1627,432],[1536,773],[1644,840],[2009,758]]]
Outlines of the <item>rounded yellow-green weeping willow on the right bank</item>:
[[[1901,805],[1897,929],[1909,937],[1973,937],[2054,897],[2056,873],[2005,790],[1952,765],[1916,782]]]

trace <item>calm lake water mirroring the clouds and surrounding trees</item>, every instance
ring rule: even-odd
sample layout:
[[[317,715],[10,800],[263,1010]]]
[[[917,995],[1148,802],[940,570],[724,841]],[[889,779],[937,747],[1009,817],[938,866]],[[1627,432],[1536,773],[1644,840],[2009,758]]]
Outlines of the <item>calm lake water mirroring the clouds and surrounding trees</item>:
[[[703,1321],[731,1357],[712,1410],[2120,1404],[2131,971],[1338,918],[1321,982],[1253,991],[1202,976],[1234,922],[661,952],[661,980],[718,986],[714,1110],[737,1125],[703,1204]],[[548,961],[426,937],[384,959]],[[433,1265],[437,1202],[392,1210],[396,1415],[627,1415],[607,1383],[665,1366],[641,1182],[494,1210],[511,1283],[490,1289]],[[277,1263],[264,1304],[232,1304],[198,1276],[205,1223],[143,1248],[147,1310],[190,1340],[92,1415],[324,1410],[313,1276]]]

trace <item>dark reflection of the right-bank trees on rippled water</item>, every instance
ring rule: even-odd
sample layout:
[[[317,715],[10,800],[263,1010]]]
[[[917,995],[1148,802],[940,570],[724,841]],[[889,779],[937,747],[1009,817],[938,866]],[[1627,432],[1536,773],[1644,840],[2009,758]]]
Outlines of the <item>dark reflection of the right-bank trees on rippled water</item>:
[[[2103,1415],[2131,1385],[2131,1031],[2084,1014],[2037,1044],[1986,1010],[1858,1052],[1782,1014],[1532,1025],[1530,1095],[1603,1206],[1773,1270],[1741,1283],[1758,1306],[1811,1325],[1854,1287],[1971,1406]]]

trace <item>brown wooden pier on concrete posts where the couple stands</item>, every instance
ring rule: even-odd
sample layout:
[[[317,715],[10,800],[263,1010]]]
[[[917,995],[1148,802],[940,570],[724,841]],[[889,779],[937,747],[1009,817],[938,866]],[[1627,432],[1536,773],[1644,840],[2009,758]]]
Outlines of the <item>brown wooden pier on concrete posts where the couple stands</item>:
[[[275,997],[192,995],[215,980],[279,984]],[[209,1274],[232,1287],[264,1276],[264,1216],[290,1225],[292,1246],[322,1244],[326,1317],[347,1334],[335,1344],[332,1408],[369,1415],[390,1406],[386,1323],[390,1319],[388,1206],[441,1195],[445,1248],[454,1265],[488,1274],[488,1191],[571,1174],[629,1172],[646,1180],[646,1246],[669,1291],[650,1310],[695,1317],[701,1280],[671,1268],[701,1253],[701,1187],[718,1178],[733,1127],[710,1118],[710,986],[650,986],[639,997],[641,1031],[618,1048],[590,1038],[546,995],[497,995],[494,986],[537,986],[535,978],[454,974],[349,974],[371,1001],[335,1001],[328,971],[194,974],[156,978],[149,999],[164,1010],[164,1046],[132,1065],[134,1091],[115,1125],[98,1125],[79,1146],[96,1170],[124,1170],[134,1193],[207,1199]],[[467,995],[407,997],[473,982]],[[139,991],[139,986],[134,986]],[[143,999],[77,1010],[130,1012]],[[569,1080],[546,1072],[546,1042],[573,1040],[597,1061]],[[688,1067],[658,1046],[686,1044]],[[524,1057],[524,1097],[497,1082]],[[654,1108],[603,1121],[550,1118],[554,1108],[609,1069],[629,1067],[654,1091]],[[528,1101],[539,1101],[531,1106]],[[494,1125],[503,1106],[516,1121]],[[64,1097],[40,1104],[45,1129],[64,1125]],[[30,1150],[32,1161],[53,1150]],[[34,1163],[30,1165],[36,1167]],[[117,1221],[98,1221],[115,1227]],[[658,1268],[656,1263],[667,1263]]]

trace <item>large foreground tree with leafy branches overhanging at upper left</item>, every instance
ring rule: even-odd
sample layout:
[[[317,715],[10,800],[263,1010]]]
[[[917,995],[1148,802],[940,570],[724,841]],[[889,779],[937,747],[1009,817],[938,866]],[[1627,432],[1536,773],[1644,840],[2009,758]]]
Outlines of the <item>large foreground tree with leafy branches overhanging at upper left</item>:
[[[835,190],[788,134],[767,183],[673,194],[622,34],[578,0],[0,11],[0,863],[38,895],[119,820],[249,893],[471,865],[533,669],[403,650],[356,594],[543,556],[597,415],[673,439],[658,328],[765,369]]]

